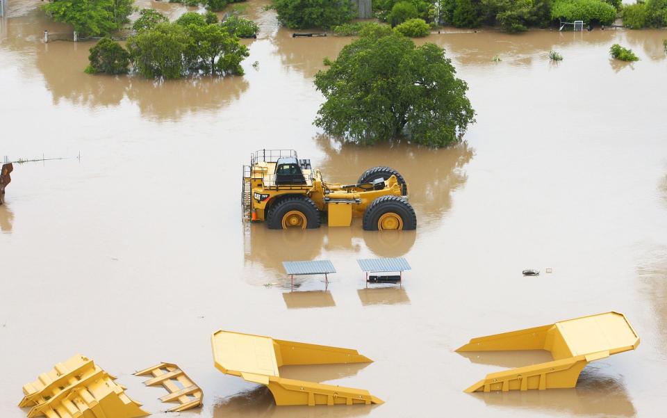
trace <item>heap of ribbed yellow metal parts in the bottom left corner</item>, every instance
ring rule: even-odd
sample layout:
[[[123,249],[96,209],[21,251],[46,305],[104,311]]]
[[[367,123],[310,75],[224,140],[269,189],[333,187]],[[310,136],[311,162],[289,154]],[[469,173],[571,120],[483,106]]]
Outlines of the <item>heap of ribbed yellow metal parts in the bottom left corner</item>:
[[[32,407],[28,418],[138,418],[146,417],[115,378],[83,355],[56,364],[23,387],[19,406]]]

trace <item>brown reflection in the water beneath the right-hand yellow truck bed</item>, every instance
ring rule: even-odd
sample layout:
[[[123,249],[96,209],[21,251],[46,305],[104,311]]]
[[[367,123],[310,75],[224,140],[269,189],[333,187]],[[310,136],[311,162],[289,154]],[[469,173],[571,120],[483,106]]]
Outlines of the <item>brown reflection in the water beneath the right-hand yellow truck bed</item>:
[[[529,390],[471,394],[488,406],[525,408],[564,415],[634,417],[636,410],[623,383],[600,376],[591,366],[579,376],[575,389]]]

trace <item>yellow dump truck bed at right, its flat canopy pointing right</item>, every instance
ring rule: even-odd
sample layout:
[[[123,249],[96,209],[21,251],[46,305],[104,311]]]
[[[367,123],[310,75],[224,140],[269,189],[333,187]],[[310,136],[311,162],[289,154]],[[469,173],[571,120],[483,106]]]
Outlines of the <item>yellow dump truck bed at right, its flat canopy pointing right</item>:
[[[503,334],[473,338],[456,351],[546,350],[551,362],[489,373],[466,392],[575,387],[586,364],[634,350],[639,336],[625,315],[607,312]]]

